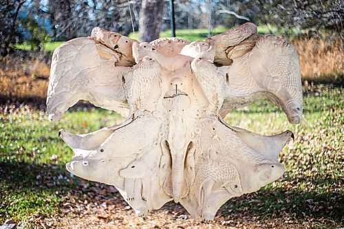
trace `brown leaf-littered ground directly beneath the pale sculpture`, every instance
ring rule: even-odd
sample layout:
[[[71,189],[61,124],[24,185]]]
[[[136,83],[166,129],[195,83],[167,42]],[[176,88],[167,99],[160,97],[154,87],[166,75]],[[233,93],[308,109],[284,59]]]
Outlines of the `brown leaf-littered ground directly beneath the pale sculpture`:
[[[84,183],[85,186],[88,182]],[[290,185],[292,188],[292,184]],[[108,198],[109,193],[114,197]],[[71,195],[61,206],[61,213],[54,218],[39,219],[36,223],[51,228],[338,228],[340,225],[331,219],[311,217],[305,215],[297,219],[296,213],[290,210],[276,210],[274,215],[264,216],[262,208],[266,207],[263,198],[273,195],[270,191],[260,191],[257,194],[248,194],[238,199],[231,199],[228,204],[220,208],[213,223],[195,221],[180,205],[168,203],[154,214],[146,217],[137,217],[135,212],[122,200],[119,193],[107,186],[98,186],[89,193],[91,197]],[[290,192],[286,199],[279,199],[279,203],[292,199],[295,193]],[[96,199],[96,201],[95,201]],[[229,211],[228,205],[249,204],[260,206],[260,211],[252,212],[247,206],[239,212]],[[314,204],[314,203],[313,203]],[[313,208],[320,206],[313,206]],[[273,207],[272,207],[273,208]],[[322,227],[321,227],[322,226]]]

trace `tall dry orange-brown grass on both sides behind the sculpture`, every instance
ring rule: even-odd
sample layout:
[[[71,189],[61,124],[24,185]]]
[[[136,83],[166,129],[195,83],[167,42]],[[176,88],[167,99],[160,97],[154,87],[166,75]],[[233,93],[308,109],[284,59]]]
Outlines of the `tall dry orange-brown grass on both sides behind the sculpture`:
[[[303,80],[343,83],[344,52],[340,39],[300,39],[294,45],[299,52]],[[30,59],[8,56],[0,63],[0,98],[45,100],[50,66],[42,56]]]

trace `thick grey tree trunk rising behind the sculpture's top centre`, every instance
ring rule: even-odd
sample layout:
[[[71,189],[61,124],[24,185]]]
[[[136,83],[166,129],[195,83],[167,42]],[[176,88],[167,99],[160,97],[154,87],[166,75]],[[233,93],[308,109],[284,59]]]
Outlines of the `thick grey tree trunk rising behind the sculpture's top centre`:
[[[163,10],[163,0],[142,0],[138,28],[140,41],[149,42],[159,38]]]

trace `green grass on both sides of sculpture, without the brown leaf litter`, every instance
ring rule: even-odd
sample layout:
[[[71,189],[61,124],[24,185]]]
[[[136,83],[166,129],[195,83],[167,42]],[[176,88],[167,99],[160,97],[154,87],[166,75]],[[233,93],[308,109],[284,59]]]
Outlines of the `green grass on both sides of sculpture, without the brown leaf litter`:
[[[290,129],[295,140],[279,160],[286,173],[257,193],[244,195],[222,206],[222,215],[235,212],[264,218],[290,214],[320,221],[319,228],[341,225],[343,209],[343,89],[313,87],[304,94],[304,120],[294,126],[281,109],[266,101],[228,114],[226,121],[260,134]],[[103,109],[74,109],[60,122],[48,122],[43,111],[21,106],[0,113],[0,225],[6,219],[30,221],[58,214],[73,190],[82,198],[87,190],[80,179],[65,170],[72,150],[58,138],[59,129],[88,133],[119,123],[122,117]],[[90,182],[90,184],[94,184]],[[252,204],[255,203],[255,204]],[[324,220],[326,220],[324,222]],[[330,223],[330,224],[329,224]],[[330,226],[329,226],[330,225]]]

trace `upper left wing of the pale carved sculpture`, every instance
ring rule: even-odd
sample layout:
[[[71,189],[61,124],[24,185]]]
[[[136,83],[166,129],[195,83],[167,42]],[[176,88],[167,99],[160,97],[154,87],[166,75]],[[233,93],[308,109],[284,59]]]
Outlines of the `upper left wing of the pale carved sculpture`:
[[[131,51],[134,42],[118,33],[95,28],[92,36],[58,47],[52,57],[47,93],[49,119],[60,120],[78,100],[89,100],[127,116],[129,107],[122,76],[135,63]]]

